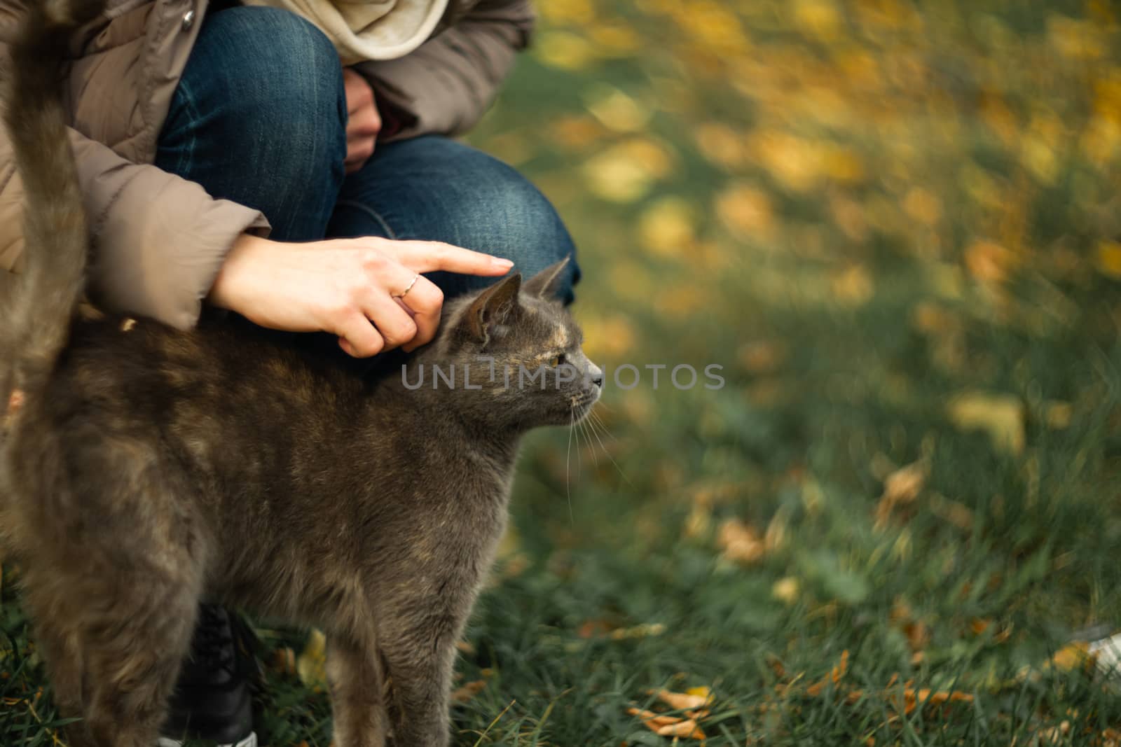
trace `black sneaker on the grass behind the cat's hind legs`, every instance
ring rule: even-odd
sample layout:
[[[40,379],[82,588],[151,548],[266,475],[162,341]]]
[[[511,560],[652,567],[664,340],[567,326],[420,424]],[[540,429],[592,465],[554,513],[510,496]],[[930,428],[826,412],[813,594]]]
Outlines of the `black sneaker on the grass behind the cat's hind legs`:
[[[230,615],[215,605],[200,605],[191,655],[168,703],[159,747],[180,747],[203,739],[229,747],[257,747],[249,687],[250,654],[242,650]]]

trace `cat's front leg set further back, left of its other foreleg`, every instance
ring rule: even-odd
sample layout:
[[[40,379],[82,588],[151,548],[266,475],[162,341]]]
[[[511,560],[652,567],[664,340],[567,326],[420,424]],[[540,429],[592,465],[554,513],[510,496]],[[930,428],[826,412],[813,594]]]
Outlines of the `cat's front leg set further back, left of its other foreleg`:
[[[383,747],[387,713],[378,653],[332,636],[327,639],[327,684],[334,715],[335,747]]]

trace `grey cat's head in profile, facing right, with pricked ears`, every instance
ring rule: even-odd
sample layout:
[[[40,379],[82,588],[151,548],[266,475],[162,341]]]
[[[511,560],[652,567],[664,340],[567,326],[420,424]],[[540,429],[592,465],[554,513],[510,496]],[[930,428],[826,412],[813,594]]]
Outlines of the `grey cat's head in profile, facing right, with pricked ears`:
[[[416,358],[424,368],[414,366],[407,384],[450,392],[443,401],[466,418],[518,429],[586,415],[603,371],[584,355],[583,334],[557,298],[566,264],[447,304],[439,334]]]

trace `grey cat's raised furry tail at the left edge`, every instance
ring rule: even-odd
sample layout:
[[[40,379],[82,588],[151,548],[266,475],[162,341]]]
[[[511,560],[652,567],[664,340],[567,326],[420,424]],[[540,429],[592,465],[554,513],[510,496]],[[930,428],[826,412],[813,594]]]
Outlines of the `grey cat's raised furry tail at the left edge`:
[[[85,207],[66,134],[63,72],[76,28],[104,0],[25,0],[7,39],[3,122],[24,186],[26,269],[0,310],[0,396],[37,393],[66,345],[85,280]],[[7,368],[7,370],[4,370]],[[4,385],[7,384],[7,386]],[[3,411],[0,402],[0,412]]]

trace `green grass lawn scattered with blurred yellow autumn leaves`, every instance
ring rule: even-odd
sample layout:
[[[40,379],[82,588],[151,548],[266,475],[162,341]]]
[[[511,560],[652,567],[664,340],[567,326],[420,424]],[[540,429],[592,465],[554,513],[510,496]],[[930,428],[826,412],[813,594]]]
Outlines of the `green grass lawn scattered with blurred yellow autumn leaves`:
[[[1047,665],[1121,627],[1110,7],[742,4],[544,2],[472,138],[571,225],[609,373],[726,385],[609,382],[602,443],[531,439],[455,744],[669,745],[627,709],[694,687],[710,745],[1117,744],[1121,680]],[[761,557],[725,557],[729,521]],[[2,599],[0,744],[48,745]],[[325,697],[266,679],[266,743],[325,747]],[[908,682],[973,699],[907,712]]]

